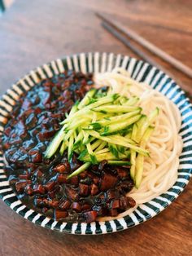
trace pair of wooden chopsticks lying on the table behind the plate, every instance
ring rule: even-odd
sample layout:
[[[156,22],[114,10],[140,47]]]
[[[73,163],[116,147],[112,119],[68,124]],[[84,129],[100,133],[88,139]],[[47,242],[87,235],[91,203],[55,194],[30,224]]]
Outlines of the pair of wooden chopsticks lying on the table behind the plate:
[[[120,24],[116,20],[111,20],[106,15],[101,13],[96,13],[98,17],[103,20],[103,27],[107,29],[108,32],[113,34],[116,38],[118,38],[121,42],[124,43],[125,46],[128,46],[134,53],[139,55],[143,60],[146,60],[148,63],[155,65],[157,68],[162,69],[164,68],[157,64],[155,60],[152,60],[149,55],[147,55],[144,51],[134,46],[131,42],[129,42],[128,37],[133,39],[133,41],[137,42],[141,46],[145,47],[148,51],[151,51],[153,54],[159,56],[162,60],[168,62],[168,64],[172,64],[174,68],[185,73],[188,77],[192,78],[192,69],[187,67],[185,64],[182,64],[181,61],[175,59],[171,55],[168,55],[165,51],[159,49],[159,47],[155,46],[151,42],[147,41],[145,38],[142,38],[132,29],[129,29],[124,24]],[[168,73],[166,71],[166,73]]]

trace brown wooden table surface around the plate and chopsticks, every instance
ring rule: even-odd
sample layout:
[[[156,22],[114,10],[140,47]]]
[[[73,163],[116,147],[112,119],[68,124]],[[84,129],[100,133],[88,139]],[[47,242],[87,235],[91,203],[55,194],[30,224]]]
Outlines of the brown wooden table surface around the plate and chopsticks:
[[[126,22],[192,68],[190,0],[17,0],[0,19],[0,93],[31,68],[63,55],[81,51],[133,55],[103,30],[94,11]],[[168,64],[164,68],[192,94],[188,77]],[[36,227],[0,201],[0,255],[190,255],[191,188],[190,182],[167,210],[150,221],[105,236],[70,236]]]

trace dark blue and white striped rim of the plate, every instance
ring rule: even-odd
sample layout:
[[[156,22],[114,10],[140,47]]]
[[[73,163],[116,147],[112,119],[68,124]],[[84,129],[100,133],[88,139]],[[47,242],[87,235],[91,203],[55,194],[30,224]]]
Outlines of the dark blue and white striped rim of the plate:
[[[30,88],[35,86],[41,79],[63,73],[65,69],[73,69],[75,71],[82,71],[83,73],[98,73],[111,71],[112,68],[119,66],[127,69],[131,77],[137,81],[146,82],[150,84],[151,87],[161,91],[168,99],[171,99],[174,104],[177,104],[177,107],[180,109],[182,117],[180,135],[182,136],[184,146],[180,157],[177,182],[168,192],[146,204],[139,205],[137,210],[134,210],[132,214],[124,218],[117,217],[115,220],[90,224],[62,223],[52,218],[47,218],[42,214],[38,214],[18,200],[15,192],[12,191],[7,181],[7,176],[4,173],[2,152],[0,152],[0,197],[2,201],[5,201],[17,214],[22,215],[24,218],[27,218],[41,227],[47,227],[59,232],[81,235],[103,234],[133,227],[154,217],[168,207],[183,191],[192,174],[192,105],[190,104],[190,100],[186,98],[185,93],[168,75],[142,60],[136,60],[129,56],[98,52],[82,53],[80,55],[68,56],[62,60],[51,61],[49,64],[44,64],[40,68],[31,71],[28,75],[11,86],[11,89],[7,90],[7,93],[2,95],[0,99],[0,135],[2,135],[4,124],[7,121],[7,114],[11,112],[17,99],[20,98],[20,95],[22,95],[24,91],[30,90]]]

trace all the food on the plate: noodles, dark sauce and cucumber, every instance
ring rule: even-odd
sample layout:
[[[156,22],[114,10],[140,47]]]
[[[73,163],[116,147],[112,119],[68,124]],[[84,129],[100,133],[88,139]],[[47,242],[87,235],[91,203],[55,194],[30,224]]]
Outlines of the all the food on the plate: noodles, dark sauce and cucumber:
[[[56,220],[123,216],[175,183],[180,127],[177,106],[122,68],[65,71],[15,104],[6,173],[20,200]]]

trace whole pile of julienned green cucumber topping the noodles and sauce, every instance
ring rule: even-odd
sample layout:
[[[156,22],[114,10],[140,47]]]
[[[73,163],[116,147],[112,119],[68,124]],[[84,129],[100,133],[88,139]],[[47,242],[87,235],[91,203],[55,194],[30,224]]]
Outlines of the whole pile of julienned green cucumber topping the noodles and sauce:
[[[143,115],[138,104],[136,96],[127,98],[112,95],[110,90],[107,94],[89,90],[60,123],[62,128],[47,147],[45,157],[67,151],[71,161],[73,152],[78,153],[84,164],[68,179],[103,160],[107,160],[108,165],[130,166],[131,177],[138,188],[144,157],[149,157],[146,143],[154,129],[151,125],[159,113],[155,108],[150,115]]]

